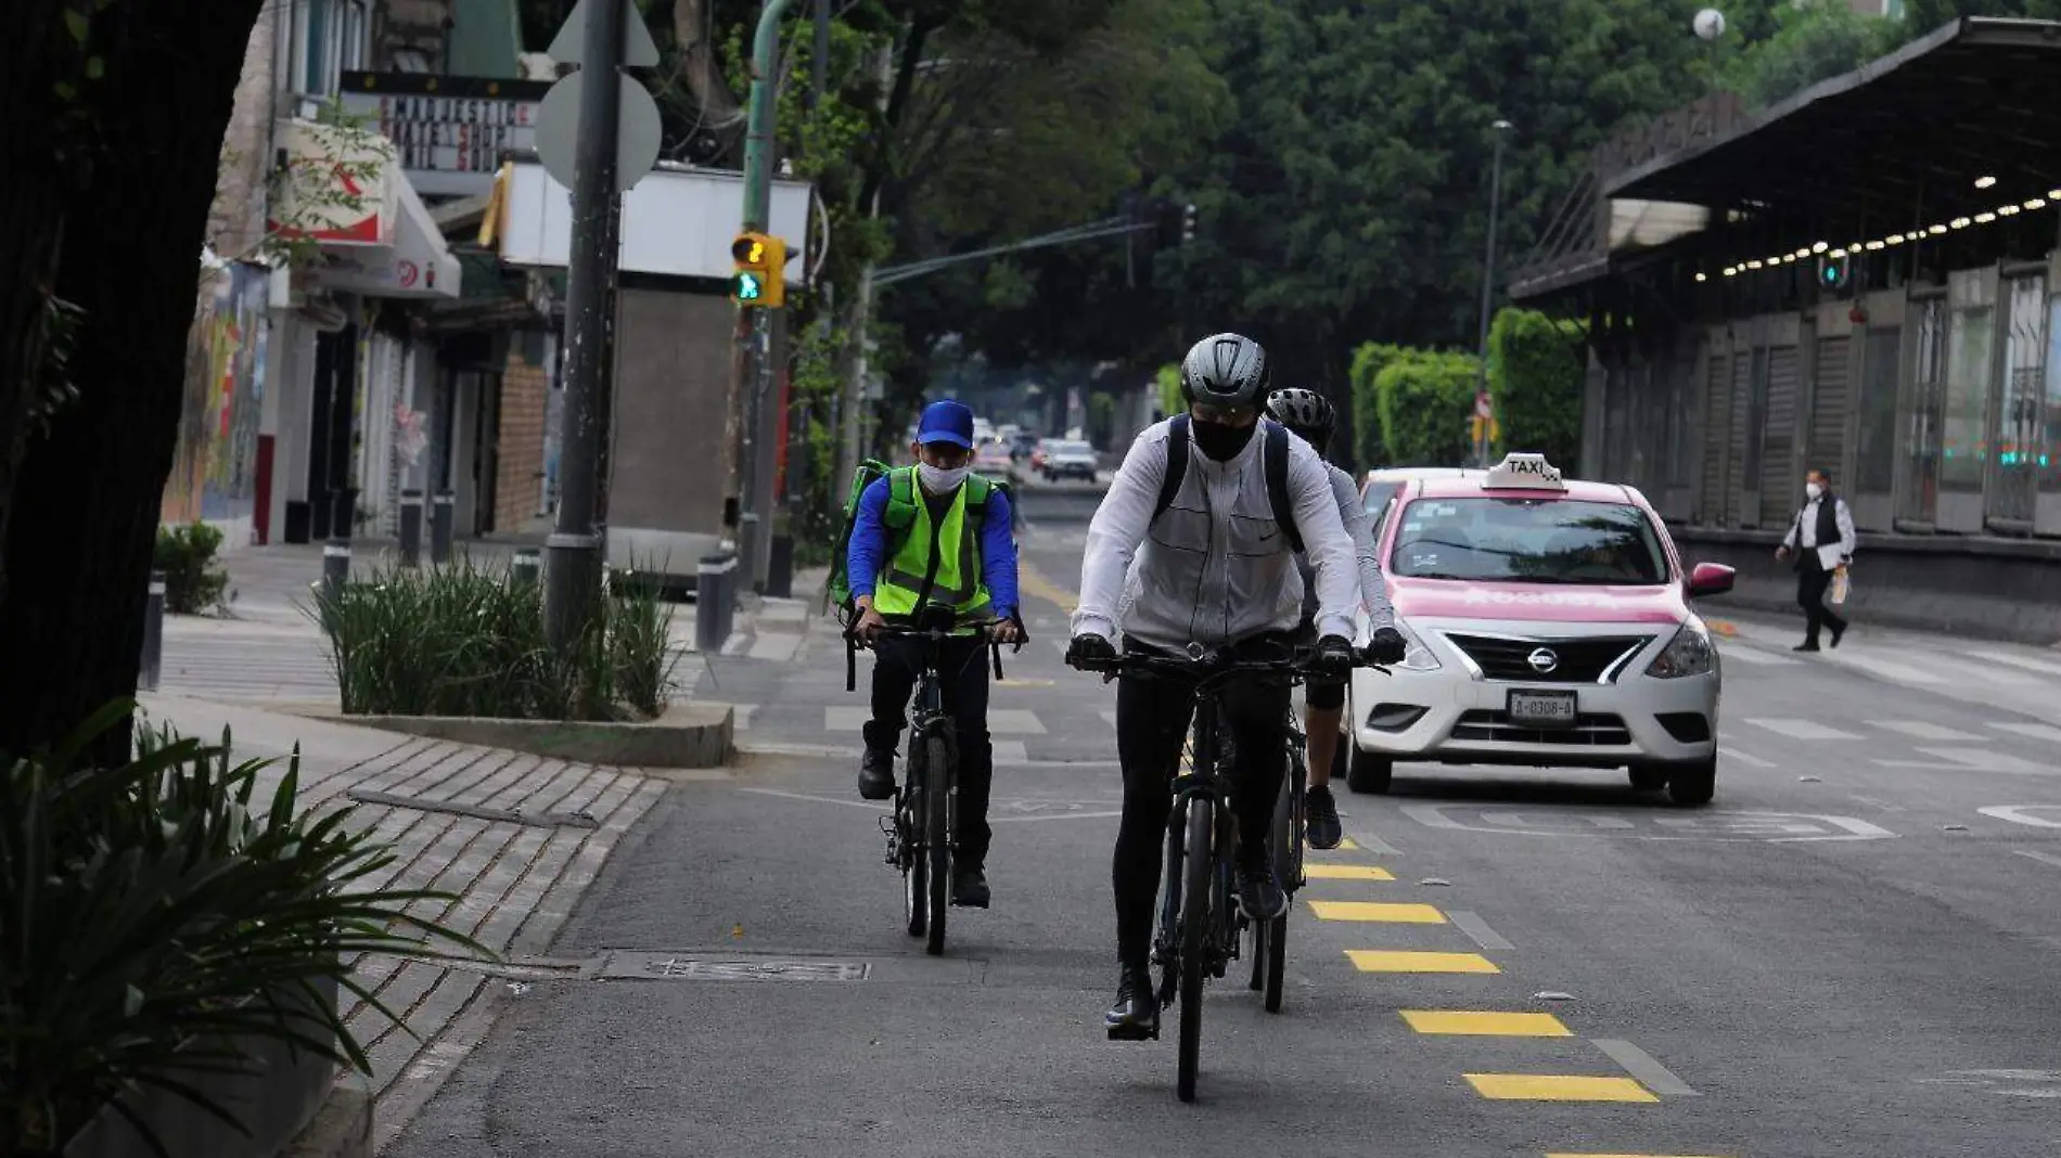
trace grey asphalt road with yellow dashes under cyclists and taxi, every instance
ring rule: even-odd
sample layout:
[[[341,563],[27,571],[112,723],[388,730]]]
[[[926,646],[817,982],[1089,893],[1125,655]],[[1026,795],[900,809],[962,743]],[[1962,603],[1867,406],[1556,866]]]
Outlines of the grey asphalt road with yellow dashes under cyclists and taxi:
[[[505,991],[390,1154],[2061,1154],[2061,696],[2036,694],[2061,655],[1863,624],[1793,657],[1791,624],[1742,624],[1707,810],[1622,773],[1399,767],[1321,855],[1393,880],[1311,882],[1284,1012],[1216,983],[1181,1104],[1171,1032],[1099,1026],[1113,696],[1059,663],[1057,606],[1092,492],[1024,509],[995,907],[954,911],[948,956],[899,929],[835,635],[719,659],[703,692],[754,705],[758,754],[631,832],[554,950],[587,979]],[[740,968],[781,960],[812,968]],[[1472,973],[1399,970],[1426,966]]]

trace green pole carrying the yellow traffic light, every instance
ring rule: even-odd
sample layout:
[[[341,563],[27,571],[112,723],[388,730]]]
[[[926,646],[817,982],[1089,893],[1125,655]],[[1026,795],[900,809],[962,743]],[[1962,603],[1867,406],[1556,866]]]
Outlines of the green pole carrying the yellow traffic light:
[[[779,21],[793,0],[767,0],[758,12],[758,31],[752,35],[752,95],[744,132],[744,233],[765,233],[773,216],[773,101],[779,95]],[[775,278],[785,276],[773,270]],[[742,375],[742,433],[738,439],[738,556],[744,563],[744,581],[752,589],[763,589],[767,579],[767,492],[761,486],[758,455],[765,441],[758,424],[765,414],[765,400],[773,389],[773,311],[752,309],[750,336],[744,344]]]

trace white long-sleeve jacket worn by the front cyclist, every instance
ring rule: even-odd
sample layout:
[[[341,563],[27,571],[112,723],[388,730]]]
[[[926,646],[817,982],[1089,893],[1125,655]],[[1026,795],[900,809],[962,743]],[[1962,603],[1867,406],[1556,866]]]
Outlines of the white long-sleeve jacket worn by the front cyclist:
[[[1138,435],[1088,523],[1074,633],[1115,641],[1121,631],[1179,649],[1294,631],[1303,577],[1268,503],[1263,433],[1255,431],[1230,462],[1191,445],[1181,490],[1154,521],[1169,429],[1156,422]],[[1288,495],[1315,569],[1317,633],[1352,639],[1360,595],[1354,544],[1329,470],[1300,439],[1288,439]]]

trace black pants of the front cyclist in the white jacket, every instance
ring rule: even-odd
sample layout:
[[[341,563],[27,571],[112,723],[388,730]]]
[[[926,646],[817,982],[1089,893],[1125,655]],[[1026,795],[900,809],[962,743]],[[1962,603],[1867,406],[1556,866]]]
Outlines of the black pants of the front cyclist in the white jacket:
[[[1138,643],[1125,643],[1138,649]],[[1257,647],[1270,647],[1265,643]],[[1263,857],[1274,824],[1274,797],[1282,787],[1288,688],[1232,684],[1222,696],[1222,721],[1232,744],[1232,808],[1239,814],[1239,851]],[[1117,892],[1117,960],[1144,964],[1152,950],[1152,902],[1164,859],[1167,816],[1173,812],[1173,777],[1195,711],[1191,684],[1121,676],[1117,680],[1117,758],[1123,762],[1123,822],[1111,882]]]

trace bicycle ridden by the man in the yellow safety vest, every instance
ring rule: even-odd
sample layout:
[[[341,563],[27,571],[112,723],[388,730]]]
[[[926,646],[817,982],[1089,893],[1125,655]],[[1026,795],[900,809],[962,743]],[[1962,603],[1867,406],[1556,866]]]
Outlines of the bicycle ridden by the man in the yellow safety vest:
[[[903,919],[911,938],[923,938],[923,952],[944,954],[944,911],[952,898],[952,832],[958,806],[958,729],[944,711],[944,686],[938,663],[946,641],[967,639],[954,628],[985,633],[1006,620],[954,622],[950,608],[923,608],[913,624],[884,624],[878,639],[921,639],[923,668],[917,672],[913,709],[909,713],[909,754],[903,762],[903,783],[894,791],[894,810],[880,818],[888,839],[888,867],[903,876]],[[1018,631],[1022,626],[1018,624]],[[1016,639],[1020,651],[1028,635]],[[857,649],[868,647],[845,633],[845,690],[857,688]],[[995,680],[1002,678],[1002,645],[989,643]]]

